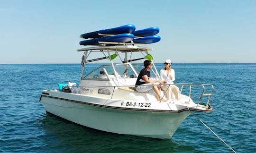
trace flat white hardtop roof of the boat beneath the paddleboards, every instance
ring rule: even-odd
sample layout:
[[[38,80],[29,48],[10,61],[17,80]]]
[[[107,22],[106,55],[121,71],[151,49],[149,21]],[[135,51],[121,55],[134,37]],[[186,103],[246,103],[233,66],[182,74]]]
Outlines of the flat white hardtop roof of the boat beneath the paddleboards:
[[[78,49],[77,51],[119,51],[119,52],[136,52],[136,51],[152,51],[152,48],[134,46],[134,45],[118,45],[118,46],[96,46]]]

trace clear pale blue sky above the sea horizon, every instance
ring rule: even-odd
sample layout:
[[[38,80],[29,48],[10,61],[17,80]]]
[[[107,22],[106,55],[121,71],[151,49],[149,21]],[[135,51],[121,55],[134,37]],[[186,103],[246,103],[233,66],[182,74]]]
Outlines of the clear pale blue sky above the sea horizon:
[[[154,62],[256,63],[256,0],[0,0],[0,63],[80,63],[80,34],[157,26]]]

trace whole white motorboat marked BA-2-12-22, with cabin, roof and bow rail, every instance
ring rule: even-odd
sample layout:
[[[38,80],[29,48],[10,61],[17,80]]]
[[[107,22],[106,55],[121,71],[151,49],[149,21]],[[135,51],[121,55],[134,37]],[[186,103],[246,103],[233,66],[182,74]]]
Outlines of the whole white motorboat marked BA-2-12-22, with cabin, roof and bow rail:
[[[119,134],[171,138],[192,111],[213,111],[209,103],[213,86],[177,84],[181,86],[181,99],[168,102],[157,101],[155,93],[138,93],[134,85],[142,67],[131,61],[152,59],[148,54],[151,50],[128,44],[79,49],[84,51],[81,81],[79,86],[72,87],[78,90],[72,90],[73,93],[61,92],[61,89],[44,90],[40,102],[47,112],[86,127]],[[99,53],[104,57],[89,58]],[[139,55],[142,57],[138,58]],[[108,60],[110,64],[101,65],[88,73],[86,63],[100,59]],[[114,64],[116,59],[121,62]],[[154,63],[153,66],[154,77],[159,78]],[[191,99],[191,91],[195,86],[202,87],[197,103]],[[185,89],[188,89],[188,95],[183,94]],[[210,89],[210,92],[205,93],[205,89]],[[198,88],[195,92],[198,92]],[[165,96],[165,93],[162,92],[162,95]],[[207,98],[204,99],[204,96]],[[206,101],[204,105],[201,104],[203,100]]]

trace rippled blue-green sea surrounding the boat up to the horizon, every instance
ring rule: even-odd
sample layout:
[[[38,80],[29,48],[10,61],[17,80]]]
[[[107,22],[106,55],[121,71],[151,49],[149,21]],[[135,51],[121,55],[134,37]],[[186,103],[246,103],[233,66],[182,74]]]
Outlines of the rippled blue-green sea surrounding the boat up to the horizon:
[[[89,70],[98,67],[92,64]],[[156,64],[163,68],[163,64]],[[256,152],[256,64],[173,64],[175,83],[214,85],[211,113],[194,113],[238,153]],[[0,64],[0,152],[231,153],[195,116],[172,139],[102,132],[46,114],[44,89],[79,83],[80,64]]]

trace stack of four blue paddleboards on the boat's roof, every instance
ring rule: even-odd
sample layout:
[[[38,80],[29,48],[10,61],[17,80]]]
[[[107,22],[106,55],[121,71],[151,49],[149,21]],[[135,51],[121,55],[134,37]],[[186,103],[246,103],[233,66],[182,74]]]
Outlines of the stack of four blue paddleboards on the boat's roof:
[[[135,30],[134,25],[119,26],[110,29],[102,29],[91,33],[81,34],[80,38],[86,40],[79,42],[80,45],[109,45],[119,43],[149,44],[159,42],[161,37],[158,27],[150,27]]]

